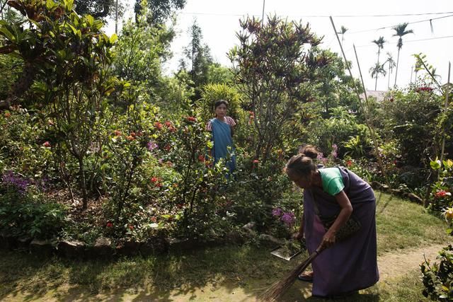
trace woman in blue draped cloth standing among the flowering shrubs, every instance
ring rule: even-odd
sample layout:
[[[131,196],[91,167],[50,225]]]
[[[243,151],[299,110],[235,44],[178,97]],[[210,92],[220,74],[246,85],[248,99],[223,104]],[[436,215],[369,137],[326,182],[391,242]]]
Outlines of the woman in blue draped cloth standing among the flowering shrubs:
[[[228,102],[226,100],[217,100],[214,103],[215,117],[207,123],[206,130],[212,132],[212,140],[214,141],[212,157],[214,157],[214,163],[217,163],[220,158],[228,158],[229,160],[225,165],[231,173],[236,167],[233,145],[233,130],[236,122],[231,117],[226,116],[227,110]]]

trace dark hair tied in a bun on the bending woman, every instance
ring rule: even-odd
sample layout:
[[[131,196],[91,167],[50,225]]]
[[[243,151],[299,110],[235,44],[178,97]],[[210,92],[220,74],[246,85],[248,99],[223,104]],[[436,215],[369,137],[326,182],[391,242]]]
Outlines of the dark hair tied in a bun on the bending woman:
[[[299,154],[289,158],[285,166],[286,173],[295,173],[299,176],[305,177],[311,174],[311,171],[316,170],[316,163],[314,159],[318,157],[318,151],[311,145],[306,145],[299,150]]]

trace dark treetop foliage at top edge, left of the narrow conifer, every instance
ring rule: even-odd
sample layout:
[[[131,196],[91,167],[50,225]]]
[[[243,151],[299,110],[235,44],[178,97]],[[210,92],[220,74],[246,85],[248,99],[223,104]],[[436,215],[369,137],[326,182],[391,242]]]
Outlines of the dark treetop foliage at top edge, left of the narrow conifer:
[[[151,16],[147,18],[150,25],[158,25],[165,23],[171,14],[178,10],[183,9],[186,0],[149,0],[147,2],[148,8],[151,11]],[[135,18],[140,15],[142,11],[142,1],[135,0]]]

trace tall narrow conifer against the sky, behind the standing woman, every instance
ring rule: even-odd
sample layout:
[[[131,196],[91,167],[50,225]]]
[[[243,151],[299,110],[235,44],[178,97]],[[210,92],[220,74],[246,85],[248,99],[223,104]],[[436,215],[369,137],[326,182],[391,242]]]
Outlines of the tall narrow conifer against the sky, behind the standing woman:
[[[189,35],[189,45],[183,49],[187,62],[183,59],[180,62],[180,68],[188,69],[188,66],[190,67],[188,74],[192,77],[193,88],[195,88],[194,100],[197,100],[201,96],[202,85],[206,84],[209,79],[208,73],[213,62],[210,47],[203,43],[202,31],[196,20],[193,21],[189,28]]]

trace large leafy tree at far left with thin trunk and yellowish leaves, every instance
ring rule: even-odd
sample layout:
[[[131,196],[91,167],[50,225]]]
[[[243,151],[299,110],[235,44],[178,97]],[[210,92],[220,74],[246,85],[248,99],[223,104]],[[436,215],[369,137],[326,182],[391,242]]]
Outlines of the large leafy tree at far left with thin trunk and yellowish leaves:
[[[22,23],[0,23],[0,35],[6,39],[0,54],[13,54],[24,62],[23,74],[6,100],[19,98],[33,85],[39,95],[35,102],[47,105],[45,119],[54,120],[48,135],[55,153],[70,154],[79,165],[86,209],[86,158],[88,151],[98,146],[94,140],[103,129],[105,97],[114,90],[108,66],[116,35],[105,35],[103,23],[92,16],[74,13],[71,0],[28,2],[8,4],[26,16],[33,28],[24,29]],[[59,166],[64,167],[64,158],[59,156],[59,160]]]

